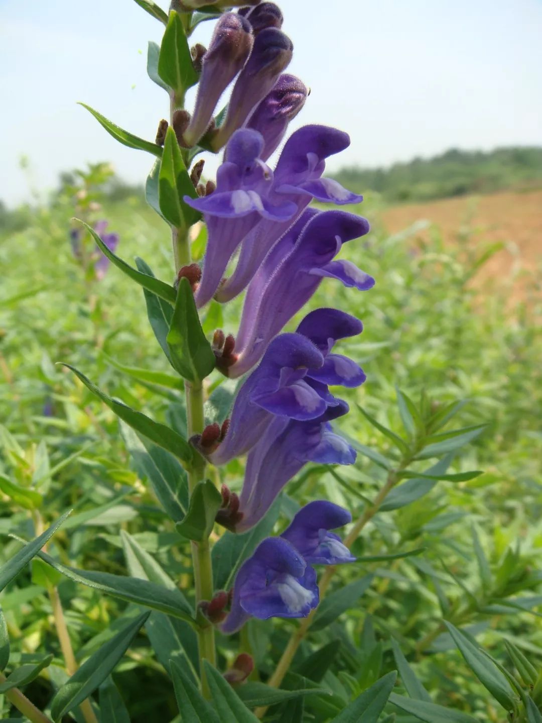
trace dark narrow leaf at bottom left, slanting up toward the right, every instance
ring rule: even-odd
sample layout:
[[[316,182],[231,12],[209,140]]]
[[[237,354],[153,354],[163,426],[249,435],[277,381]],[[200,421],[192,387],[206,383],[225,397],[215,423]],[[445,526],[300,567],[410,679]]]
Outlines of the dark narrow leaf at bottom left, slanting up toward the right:
[[[51,716],[54,721],[60,720],[79,703],[82,703],[113,672],[149,614],[149,612],[145,612],[126,625],[126,628],[102,645],[69,678],[67,683],[58,689],[51,702]]]

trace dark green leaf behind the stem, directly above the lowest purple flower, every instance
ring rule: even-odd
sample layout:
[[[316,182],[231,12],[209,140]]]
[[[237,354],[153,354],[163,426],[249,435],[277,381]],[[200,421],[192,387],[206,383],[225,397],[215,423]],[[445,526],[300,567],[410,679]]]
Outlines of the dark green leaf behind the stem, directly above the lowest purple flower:
[[[243,534],[224,532],[220,536],[211,552],[215,589],[230,589],[242,563],[252,555],[258,544],[271,534],[279,518],[280,508],[281,498],[279,497],[271,505],[263,520],[258,522],[253,529]]]

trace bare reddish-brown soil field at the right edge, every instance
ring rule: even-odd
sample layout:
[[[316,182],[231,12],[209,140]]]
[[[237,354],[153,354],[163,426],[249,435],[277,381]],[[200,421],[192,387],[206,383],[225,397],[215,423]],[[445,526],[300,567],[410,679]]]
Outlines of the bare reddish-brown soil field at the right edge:
[[[390,233],[427,219],[449,243],[468,239],[470,244],[501,241],[497,252],[478,273],[476,283],[500,278],[512,283],[515,299],[525,297],[533,278],[541,284],[542,190],[502,192],[491,195],[450,198],[388,208],[382,221]],[[431,233],[427,228],[421,235]],[[532,289],[531,289],[532,291]]]

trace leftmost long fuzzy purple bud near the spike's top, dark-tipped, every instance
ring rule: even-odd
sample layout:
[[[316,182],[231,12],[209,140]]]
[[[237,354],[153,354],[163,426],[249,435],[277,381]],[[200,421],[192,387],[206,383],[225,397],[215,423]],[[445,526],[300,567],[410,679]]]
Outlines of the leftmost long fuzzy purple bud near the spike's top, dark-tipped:
[[[201,61],[196,106],[184,133],[186,145],[195,145],[209,128],[220,96],[245,64],[252,45],[248,21],[233,12],[222,15]]]

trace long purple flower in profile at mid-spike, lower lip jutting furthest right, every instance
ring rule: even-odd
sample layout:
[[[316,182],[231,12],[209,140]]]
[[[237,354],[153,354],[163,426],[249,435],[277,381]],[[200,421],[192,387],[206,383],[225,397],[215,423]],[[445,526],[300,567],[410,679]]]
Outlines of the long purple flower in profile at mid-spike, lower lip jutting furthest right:
[[[318,288],[324,276],[365,291],[375,280],[346,261],[333,261],[342,244],[367,234],[365,218],[344,211],[306,210],[268,253],[248,286],[237,361],[226,373],[239,377],[261,359],[268,343]]]

